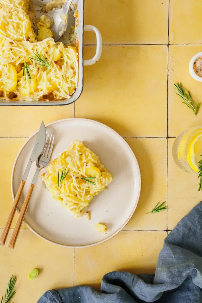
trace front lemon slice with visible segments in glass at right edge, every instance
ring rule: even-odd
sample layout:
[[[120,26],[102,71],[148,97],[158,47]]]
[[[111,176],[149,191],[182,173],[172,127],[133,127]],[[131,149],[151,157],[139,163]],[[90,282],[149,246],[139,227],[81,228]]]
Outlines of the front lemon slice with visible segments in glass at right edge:
[[[198,163],[201,160],[202,155],[202,133],[198,134],[192,139],[190,144],[187,146],[187,162],[190,167],[198,172]]]

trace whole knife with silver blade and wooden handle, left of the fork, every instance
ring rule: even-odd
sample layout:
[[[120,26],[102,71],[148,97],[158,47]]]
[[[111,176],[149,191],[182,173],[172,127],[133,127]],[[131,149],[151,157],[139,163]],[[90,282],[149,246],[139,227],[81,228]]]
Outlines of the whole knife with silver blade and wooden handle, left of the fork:
[[[16,211],[16,209],[18,207],[18,202],[20,200],[20,197],[21,197],[21,194],[22,194],[22,190],[23,190],[23,188],[25,186],[25,182],[27,180],[27,177],[28,177],[31,165],[41,155],[41,153],[42,153],[42,151],[44,149],[44,146],[45,146],[45,141],[46,141],[46,130],[45,130],[44,122],[42,121],[41,122],[41,126],[40,126],[39,131],[38,131],[38,135],[36,137],[34,148],[32,150],[32,153],[31,153],[31,156],[29,158],[27,167],[26,167],[24,175],[22,177],[22,181],[21,181],[20,186],[18,188],[18,192],[17,192],[17,194],[15,196],[15,200],[13,202],[12,208],[11,208],[10,213],[8,215],[8,219],[7,219],[6,223],[5,223],[2,235],[0,237],[0,245],[4,245],[5,244],[6,238],[8,236],[8,231],[9,231],[9,229],[11,227],[11,223],[13,221],[13,217],[15,215],[15,211]]]

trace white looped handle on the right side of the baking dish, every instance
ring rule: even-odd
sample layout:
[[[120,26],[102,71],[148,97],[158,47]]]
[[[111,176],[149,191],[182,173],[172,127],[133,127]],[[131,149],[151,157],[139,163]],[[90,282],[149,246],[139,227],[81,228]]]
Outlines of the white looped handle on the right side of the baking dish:
[[[93,25],[84,25],[84,31],[94,32],[96,35],[96,40],[97,40],[96,53],[92,59],[84,60],[84,65],[92,65],[95,64],[100,59],[102,53],[102,36],[98,28]]]

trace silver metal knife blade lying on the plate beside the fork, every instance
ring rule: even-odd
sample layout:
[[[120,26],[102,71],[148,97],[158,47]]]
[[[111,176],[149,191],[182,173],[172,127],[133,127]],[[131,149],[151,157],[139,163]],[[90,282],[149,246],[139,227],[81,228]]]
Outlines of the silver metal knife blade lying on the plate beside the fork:
[[[38,134],[37,134],[37,137],[36,137],[36,141],[35,141],[33,150],[31,152],[31,156],[29,158],[27,167],[26,167],[24,175],[22,177],[23,181],[27,180],[28,173],[30,171],[32,163],[41,155],[43,148],[45,146],[45,141],[46,141],[46,130],[45,130],[45,124],[42,121]]]

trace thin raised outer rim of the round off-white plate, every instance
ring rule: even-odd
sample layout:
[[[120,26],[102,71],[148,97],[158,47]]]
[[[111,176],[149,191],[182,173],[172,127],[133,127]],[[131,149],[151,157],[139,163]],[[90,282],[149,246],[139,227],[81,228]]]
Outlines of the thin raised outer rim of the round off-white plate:
[[[137,158],[135,157],[134,155],[134,152],[132,151],[131,147],[128,145],[128,143],[124,140],[124,138],[121,137],[121,135],[119,135],[117,132],[115,132],[112,128],[110,128],[109,126],[103,124],[103,123],[100,123],[98,121],[95,121],[95,120],[91,120],[91,119],[85,119],[85,118],[66,118],[66,119],[61,119],[61,120],[57,120],[57,121],[54,121],[54,122],[51,122],[47,125],[45,125],[46,127],[49,126],[49,125],[53,125],[55,123],[59,123],[59,122],[64,122],[64,121],[70,121],[70,120],[80,120],[80,121],[90,121],[90,122],[93,122],[93,123],[97,123],[99,125],[102,125],[106,128],[108,128],[108,130],[110,130],[111,132],[113,132],[115,135],[117,135],[122,141],[123,143],[127,146],[127,148],[131,151],[131,154],[134,158],[134,161],[135,161],[135,164],[137,165],[137,171],[138,171],[138,178],[139,178],[139,188],[138,188],[138,195],[137,195],[137,199],[134,203],[134,208],[131,212],[131,214],[129,215],[129,217],[127,218],[127,220],[124,222],[124,224],[116,231],[114,232],[112,235],[110,235],[109,237],[101,240],[101,241],[98,241],[98,242],[95,242],[95,243],[91,243],[91,244],[88,244],[88,245],[77,245],[77,246],[73,246],[73,245],[64,245],[64,244],[60,244],[60,243],[57,243],[57,242],[54,242],[54,241],[50,241],[48,240],[47,238],[43,237],[42,235],[40,235],[38,232],[36,232],[29,224],[26,220],[24,220],[25,224],[28,226],[28,228],[33,231],[35,233],[35,235],[39,236],[40,238],[42,238],[43,240],[45,241],[48,241],[49,243],[52,243],[52,244],[55,244],[55,245],[58,245],[58,246],[62,246],[62,247],[68,247],[68,248],[84,248],[84,247],[90,247],[90,246],[94,246],[94,245],[98,245],[100,243],[103,243],[109,239],[111,239],[112,237],[114,237],[115,235],[117,235],[124,227],[125,225],[128,223],[128,221],[131,219],[132,215],[134,214],[134,211],[137,207],[137,204],[138,204],[138,201],[139,201],[139,198],[140,198],[140,191],[141,191],[141,173],[140,173],[140,168],[139,168],[139,164],[137,162]],[[15,199],[15,195],[14,195],[14,186],[13,186],[13,182],[14,182],[14,172],[15,172],[15,165],[18,161],[18,158],[19,158],[19,155],[21,154],[23,148],[25,147],[25,145],[29,142],[29,140],[38,133],[38,131],[36,131],[35,133],[33,133],[27,140],[26,142],[22,145],[21,149],[19,150],[18,152],[18,155],[16,156],[15,158],[15,162],[14,162],[14,165],[13,165],[13,168],[12,168],[12,175],[11,175],[11,192],[12,192],[12,198],[13,200]],[[19,213],[19,209],[17,208],[17,211]]]

